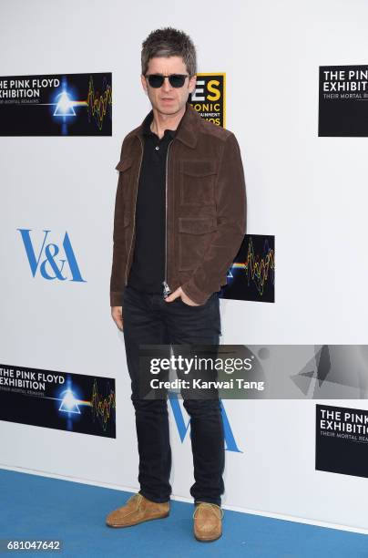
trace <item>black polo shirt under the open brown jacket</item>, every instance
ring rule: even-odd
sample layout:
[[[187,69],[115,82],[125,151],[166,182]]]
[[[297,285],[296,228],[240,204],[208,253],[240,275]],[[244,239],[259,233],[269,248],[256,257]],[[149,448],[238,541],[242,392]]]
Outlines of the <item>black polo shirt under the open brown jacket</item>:
[[[177,130],[160,140],[150,129],[151,110],[143,120],[144,151],[138,181],[136,242],[128,284],[145,293],[163,293],[166,240],[166,158]]]

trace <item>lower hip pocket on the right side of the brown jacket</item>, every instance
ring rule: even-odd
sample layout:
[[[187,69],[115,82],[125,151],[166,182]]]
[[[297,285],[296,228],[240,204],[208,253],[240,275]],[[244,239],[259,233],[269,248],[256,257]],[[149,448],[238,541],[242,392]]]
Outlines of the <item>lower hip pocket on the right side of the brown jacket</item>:
[[[199,266],[216,230],[216,218],[179,217],[179,271]]]

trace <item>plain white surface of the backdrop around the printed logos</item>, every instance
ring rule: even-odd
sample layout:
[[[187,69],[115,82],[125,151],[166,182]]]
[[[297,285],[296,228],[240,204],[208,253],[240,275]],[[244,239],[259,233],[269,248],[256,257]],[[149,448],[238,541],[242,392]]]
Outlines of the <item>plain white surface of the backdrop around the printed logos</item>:
[[[150,109],[141,42],[179,27],[198,48],[199,72],[226,72],[248,233],[276,237],[276,303],[221,300],[222,342],[364,344],[367,140],[318,138],[317,120],[318,67],[367,63],[368,4],[1,0],[0,10],[0,76],[113,73],[112,138],[0,138],[0,362],[117,382],[117,439],[0,422],[0,466],[136,490],[124,341],[108,290],[115,166],[123,137]],[[35,243],[44,229],[57,243],[67,231],[87,283],[33,278],[17,228],[31,229]],[[368,480],[314,470],[315,401],[224,405],[241,450],[227,451],[225,507],[368,530]],[[174,495],[189,498],[189,437],[181,443],[172,416],[171,438]]]

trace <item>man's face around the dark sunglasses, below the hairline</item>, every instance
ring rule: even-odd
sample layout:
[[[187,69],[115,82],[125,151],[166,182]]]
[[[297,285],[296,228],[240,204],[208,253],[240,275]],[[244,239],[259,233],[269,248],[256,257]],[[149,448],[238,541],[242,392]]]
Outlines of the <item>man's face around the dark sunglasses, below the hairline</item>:
[[[188,70],[182,57],[154,57],[148,62],[147,74],[187,74]],[[173,88],[165,79],[160,88],[151,88],[148,79],[141,76],[142,86],[148,93],[153,109],[161,114],[175,114],[182,109],[196,86],[196,76],[186,78],[182,88]]]

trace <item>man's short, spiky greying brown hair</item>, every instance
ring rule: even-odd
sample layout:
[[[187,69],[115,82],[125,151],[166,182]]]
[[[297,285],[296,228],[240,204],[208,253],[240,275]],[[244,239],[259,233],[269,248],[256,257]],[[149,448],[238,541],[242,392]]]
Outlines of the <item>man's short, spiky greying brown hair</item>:
[[[142,43],[142,74],[146,75],[148,62],[153,57],[182,57],[189,76],[197,73],[196,47],[183,31],[173,27],[163,27],[149,33]]]

